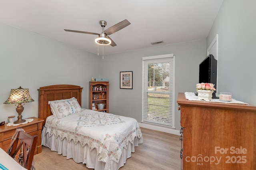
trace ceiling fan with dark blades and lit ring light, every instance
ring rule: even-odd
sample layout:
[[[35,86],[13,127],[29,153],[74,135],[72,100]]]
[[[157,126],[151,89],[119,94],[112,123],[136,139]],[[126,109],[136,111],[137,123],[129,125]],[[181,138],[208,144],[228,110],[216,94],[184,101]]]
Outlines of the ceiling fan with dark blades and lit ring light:
[[[116,43],[109,37],[109,35],[125,28],[126,26],[130,25],[131,23],[128,20],[123,20],[114,26],[111,26],[110,28],[106,29],[104,31],[104,27],[107,25],[107,22],[104,20],[100,21],[100,26],[102,27],[102,33],[94,33],[94,32],[84,32],[84,31],[76,31],[76,30],[65,30],[68,32],[78,32],[78,33],[84,33],[84,34],[94,34],[98,35],[98,38],[95,39],[95,42],[100,45],[111,45],[112,47],[116,46]]]

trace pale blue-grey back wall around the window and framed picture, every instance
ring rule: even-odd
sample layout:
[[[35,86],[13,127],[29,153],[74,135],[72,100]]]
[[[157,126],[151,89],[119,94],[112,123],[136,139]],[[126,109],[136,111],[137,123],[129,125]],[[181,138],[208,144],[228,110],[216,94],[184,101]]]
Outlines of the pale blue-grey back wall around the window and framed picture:
[[[206,40],[176,43],[105,55],[101,77],[108,78],[110,113],[142,120],[142,57],[173,53],[175,56],[175,127],[180,129],[178,92],[196,92],[199,63],[206,57]],[[120,71],[133,71],[133,89],[120,89]]]

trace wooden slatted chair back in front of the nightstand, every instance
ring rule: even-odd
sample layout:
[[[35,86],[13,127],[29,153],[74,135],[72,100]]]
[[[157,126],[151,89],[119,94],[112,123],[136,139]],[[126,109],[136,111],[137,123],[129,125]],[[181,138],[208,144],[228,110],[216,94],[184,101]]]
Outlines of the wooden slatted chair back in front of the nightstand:
[[[14,159],[16,159],[16,155],[19,151],[23,152],[21,161],[18,160],[18,162],[20,162],[22,166],[28,170],[30,170],[32,166],[37,139],[37,135],[31,136],[24,131],[19,131],[17,138],[14,140],[10,150],[10,156]]]

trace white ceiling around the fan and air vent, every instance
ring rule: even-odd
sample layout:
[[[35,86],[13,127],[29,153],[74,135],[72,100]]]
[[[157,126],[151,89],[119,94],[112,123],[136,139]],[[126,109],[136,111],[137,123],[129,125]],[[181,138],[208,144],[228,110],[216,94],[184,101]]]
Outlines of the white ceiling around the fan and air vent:
[[[127,19],[131,24],[112,34],[117,46],[104,54],[205,39],[223,0],[0,0],[0,22],[97,53],[97,35]],[[99,45],[102,53],[102,45]]]

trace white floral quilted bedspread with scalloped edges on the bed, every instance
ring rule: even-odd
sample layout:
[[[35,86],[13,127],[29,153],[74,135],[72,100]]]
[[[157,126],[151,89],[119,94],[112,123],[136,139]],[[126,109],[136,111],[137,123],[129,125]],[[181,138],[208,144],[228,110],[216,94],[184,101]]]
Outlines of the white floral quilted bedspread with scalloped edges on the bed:
[[[111,160],[119,162],[123,148],[127,148],[128,142],[133,143],[135,137],[138,143],[143,142],[135,119],[88,109],[62,119],[50,116],[45,128],[49,136],[54,134],[55,138],[80,142],[82,146],[88,144],[90,150],[96,148],[98,161],[106,162],[105,169],[110,168]]]

